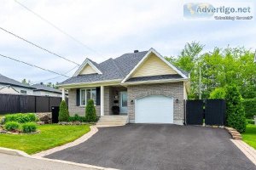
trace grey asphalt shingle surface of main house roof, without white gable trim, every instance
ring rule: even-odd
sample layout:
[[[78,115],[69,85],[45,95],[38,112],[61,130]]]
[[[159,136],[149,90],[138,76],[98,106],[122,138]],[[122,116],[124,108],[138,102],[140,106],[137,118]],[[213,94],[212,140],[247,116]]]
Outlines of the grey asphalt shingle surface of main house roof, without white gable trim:
[[[77,77],[70,77],[64,82],[59,83],[58,85],[124,79],[147,53],[148,51],[123,54],[116,59],[111,58],[103,61],[100,64],[97,64],[90,59],[90,62],[95,65],[100,71],[102,71],[102,74],[88,74],[79,75]],[[181,69],[178,70],[182,71]],[[183,74],[185,73],[185,71],[182,72]],[[186,73],[185,75],[188,75],[188,73]]]

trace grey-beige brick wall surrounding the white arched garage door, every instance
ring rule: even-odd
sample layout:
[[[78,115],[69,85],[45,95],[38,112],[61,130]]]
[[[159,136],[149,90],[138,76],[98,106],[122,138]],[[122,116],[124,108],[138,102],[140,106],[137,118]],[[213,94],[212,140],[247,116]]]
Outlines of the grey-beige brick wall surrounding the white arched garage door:
[[[173,98],[173,123],[183,124],[183,82],[132,85],[127,88],[127,92],[129,122],[135,122],[135,99],[148,95],[165,95]],[[134,101],[133,104],[131,100]]]

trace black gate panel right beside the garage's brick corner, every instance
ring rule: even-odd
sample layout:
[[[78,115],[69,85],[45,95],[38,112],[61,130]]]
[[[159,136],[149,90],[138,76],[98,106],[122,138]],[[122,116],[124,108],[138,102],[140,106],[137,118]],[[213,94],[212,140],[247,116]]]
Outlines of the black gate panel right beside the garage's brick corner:
[[[203,105],[202,99],[186,101],[186,122],[189,125],[202,125],[203,123]]]

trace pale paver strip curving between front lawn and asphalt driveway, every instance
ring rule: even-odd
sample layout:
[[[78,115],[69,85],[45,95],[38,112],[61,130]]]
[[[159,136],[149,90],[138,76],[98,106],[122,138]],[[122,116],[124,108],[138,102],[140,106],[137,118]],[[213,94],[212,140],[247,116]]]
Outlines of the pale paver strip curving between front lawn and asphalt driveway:
[[[44,157],[44,156],[48,156],[50,154],[53,154],[53,153],[55,153],[57,151],[65,150],[65,149],[67,149],[69,147],[73,147],[75,145],[83,143],[87,139],[90,139],[90,137],[93,136],[97,132],[98,132],[98,129],[97,129],[97,127],[95,125],[94,126],[90,126],[90,132],[89,133],[85,133],[79,139],[76,139],[73,142],[70,142],[70,143],[67,143],[67,144],[63,144],[61,146],[57,146],[57,147],[49,149],[49,150],[44,150],[44,151],[38,152],[36,154],[33,154],[32,156]]]

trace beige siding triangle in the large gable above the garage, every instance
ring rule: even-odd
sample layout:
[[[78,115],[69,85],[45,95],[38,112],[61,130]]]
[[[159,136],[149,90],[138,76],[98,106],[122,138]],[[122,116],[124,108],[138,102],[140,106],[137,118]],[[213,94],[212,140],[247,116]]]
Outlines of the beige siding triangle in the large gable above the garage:
[[[166,63],[155,54],[150,54],[148,59],[137,68],[137,71],[135,71],[131,77],[148,77],[168,74],[177,74],[177,72],[169,65],[166,65]]]

